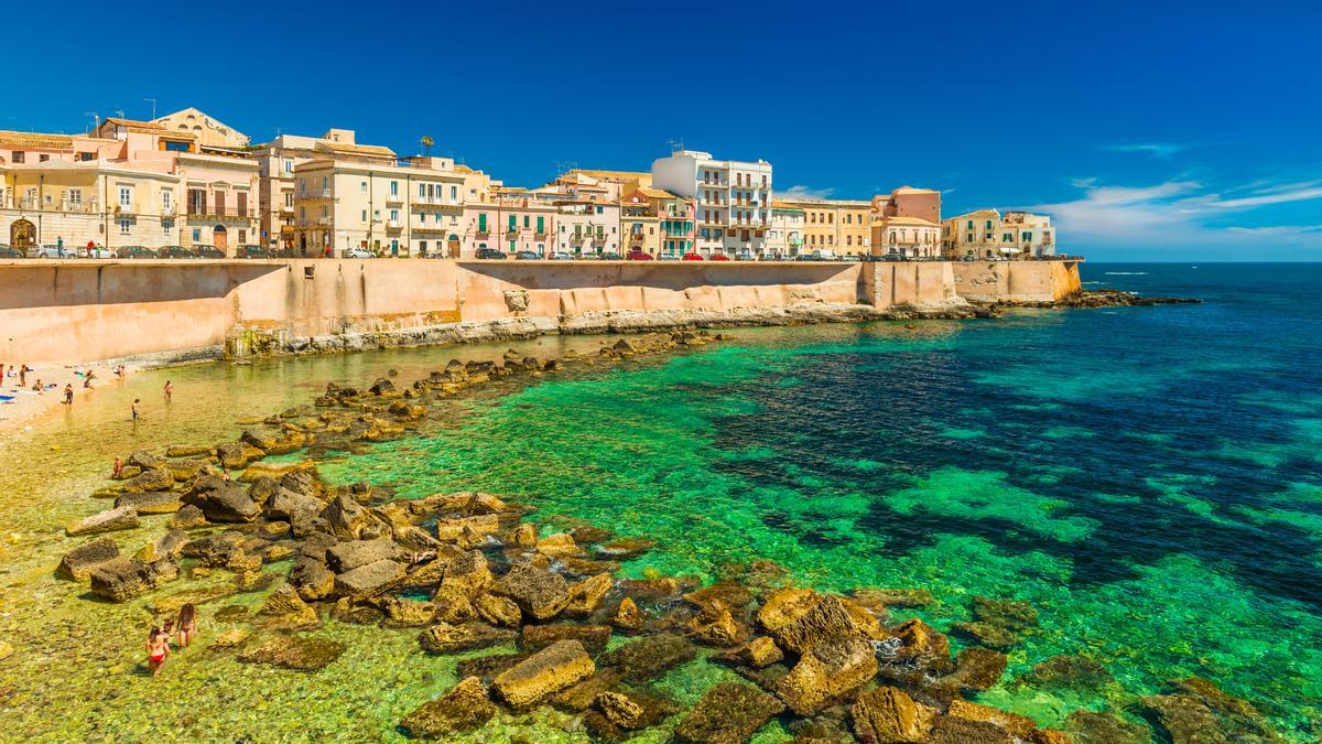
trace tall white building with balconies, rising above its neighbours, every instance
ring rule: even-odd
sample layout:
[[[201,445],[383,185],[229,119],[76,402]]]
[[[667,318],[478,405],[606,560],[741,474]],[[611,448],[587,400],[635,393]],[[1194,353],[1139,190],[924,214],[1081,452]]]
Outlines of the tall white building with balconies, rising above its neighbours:
[[[715,160],[681,150],[652,163],[652,185],[691,199],[702,256],[767,250],[771,229],[771,163]]]

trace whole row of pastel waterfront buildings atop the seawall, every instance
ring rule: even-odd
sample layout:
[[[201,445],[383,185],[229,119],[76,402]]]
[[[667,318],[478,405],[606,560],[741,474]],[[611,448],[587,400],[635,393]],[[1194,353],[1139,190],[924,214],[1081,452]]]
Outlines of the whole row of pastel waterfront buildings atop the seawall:
[[[680,150],[650,171],[571,169],[508,187],[432,155],[399,156],[350,130],[264,144],[185,109],[106,119],[83,135],[0,131],[0,242],[110,249],[262,246],[288,256],[1044,257],[1048,217],[941,218],[941,195],[777,197],[765,160]]]

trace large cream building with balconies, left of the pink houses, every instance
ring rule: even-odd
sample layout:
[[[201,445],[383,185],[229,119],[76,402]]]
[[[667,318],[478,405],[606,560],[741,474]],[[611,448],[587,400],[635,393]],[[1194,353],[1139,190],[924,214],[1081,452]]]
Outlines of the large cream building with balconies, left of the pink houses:
[[[451,158],[382,164],[317,159],[293,167],[295,253],[344,256],[350,249],[405,257],[457,256],[467,189]]]

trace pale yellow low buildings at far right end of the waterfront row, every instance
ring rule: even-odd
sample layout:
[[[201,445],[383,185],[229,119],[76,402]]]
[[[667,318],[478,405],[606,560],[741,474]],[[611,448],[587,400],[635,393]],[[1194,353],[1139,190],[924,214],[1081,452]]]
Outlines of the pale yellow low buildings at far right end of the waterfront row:
[[[1043,258],[1055,256],[1051,217],[1029,212],[978,209],[941,222],[947,258]]]

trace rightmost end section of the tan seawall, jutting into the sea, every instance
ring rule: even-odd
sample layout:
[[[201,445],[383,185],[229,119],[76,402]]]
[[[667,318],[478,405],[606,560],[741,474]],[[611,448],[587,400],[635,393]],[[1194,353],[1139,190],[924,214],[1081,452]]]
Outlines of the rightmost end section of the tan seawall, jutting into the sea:
[[[1083,289],[1077,261],[957,261],[954,291],[970,302],[1054,302]]]

